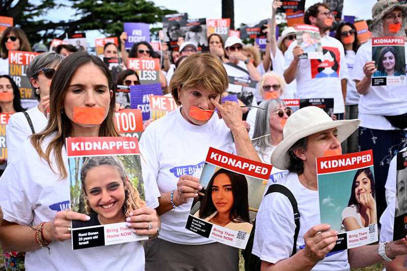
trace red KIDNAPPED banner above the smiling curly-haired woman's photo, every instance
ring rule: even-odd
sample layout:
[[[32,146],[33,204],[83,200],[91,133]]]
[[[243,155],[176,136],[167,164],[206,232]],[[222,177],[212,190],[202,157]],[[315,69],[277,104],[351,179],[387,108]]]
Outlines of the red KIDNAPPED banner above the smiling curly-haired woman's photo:
[[[68,137],[68,157],[139,154],[136,137]]]

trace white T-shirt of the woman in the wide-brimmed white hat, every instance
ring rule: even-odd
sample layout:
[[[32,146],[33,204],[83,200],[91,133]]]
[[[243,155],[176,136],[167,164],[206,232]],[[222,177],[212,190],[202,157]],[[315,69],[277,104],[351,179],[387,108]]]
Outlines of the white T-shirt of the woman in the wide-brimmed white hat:
[[[304,234],[320,223],[318,191],[305,188],[295,173],[288,173],[279,182],[288,188],[298,203],[300,212],[300,232],[297,239],[297,252],[304,248]],[[288,198],[281,193],[271,193],[261,201],[256,216],[256,230],[252,253],[261,260],[276,263],[287,259],[293,251],[294,212]],[[349,270],[347,251],[328,253],[313,270]]]

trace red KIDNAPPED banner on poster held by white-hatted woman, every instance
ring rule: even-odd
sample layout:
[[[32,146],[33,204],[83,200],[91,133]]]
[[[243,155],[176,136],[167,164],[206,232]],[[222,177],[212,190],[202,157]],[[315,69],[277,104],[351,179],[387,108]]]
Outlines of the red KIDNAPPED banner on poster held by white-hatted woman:
[[[373,166],[371,149],[363,152],[316,158],[316,173],[340,172]]]

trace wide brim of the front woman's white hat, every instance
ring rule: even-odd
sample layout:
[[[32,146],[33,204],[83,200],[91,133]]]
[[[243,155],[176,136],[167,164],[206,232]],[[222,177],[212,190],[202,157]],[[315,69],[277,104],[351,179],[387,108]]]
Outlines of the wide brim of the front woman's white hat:
[[[348,138],[356,129],[358,129],[360,124],[360,119],[350,119],[344,121],[332,121],[319,123],[316,125],[311,125],[305,127],[296,133],[288,135],[284,138],[274,149],[271,156],[270,162],[273,167],[278,169],[286,170],[289,164],[288,149],[292,147],[301,138],[307,137],[309,135],[322,132],[328,129],[337,128],[338,129],[338,140],[342,143],[346,138]]]

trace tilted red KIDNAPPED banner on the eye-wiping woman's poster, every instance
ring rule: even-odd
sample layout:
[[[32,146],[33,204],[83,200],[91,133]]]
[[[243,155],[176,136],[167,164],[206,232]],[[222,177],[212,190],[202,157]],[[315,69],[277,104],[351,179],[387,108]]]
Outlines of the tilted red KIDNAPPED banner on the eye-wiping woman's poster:
[[[246,159],[210,147],[205,162],[255,178],[269,179],[272,165]]]

